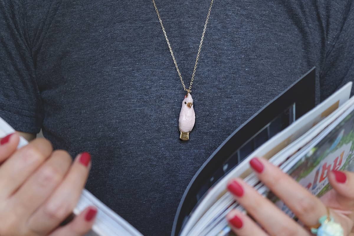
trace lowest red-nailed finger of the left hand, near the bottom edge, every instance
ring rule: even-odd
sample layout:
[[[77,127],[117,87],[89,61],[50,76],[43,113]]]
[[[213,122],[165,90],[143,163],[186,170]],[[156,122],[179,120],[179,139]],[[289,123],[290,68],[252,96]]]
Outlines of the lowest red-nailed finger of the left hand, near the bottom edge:
[[[85,235],[95,223],[97,208],[87,207],[78,216],[76,216],[69,224],[59,227],[49,236],[81,236]]]

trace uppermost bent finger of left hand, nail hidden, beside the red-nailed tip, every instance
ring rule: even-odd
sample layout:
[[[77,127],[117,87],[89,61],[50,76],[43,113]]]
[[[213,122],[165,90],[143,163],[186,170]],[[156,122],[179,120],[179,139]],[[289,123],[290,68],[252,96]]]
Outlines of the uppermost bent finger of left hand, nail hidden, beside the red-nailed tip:
[[[15,151],[0,166],[0,199],[13,194],[52,153],[51,143],[37,138]]]

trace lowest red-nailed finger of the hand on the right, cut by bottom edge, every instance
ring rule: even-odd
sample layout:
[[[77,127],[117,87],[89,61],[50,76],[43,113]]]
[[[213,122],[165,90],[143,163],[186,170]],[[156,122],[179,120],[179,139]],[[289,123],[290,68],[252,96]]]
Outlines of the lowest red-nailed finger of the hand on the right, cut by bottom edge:
[[[229,225],[238,236],[268,236],[250,217],[237,210],[233,210],[226,215]]]

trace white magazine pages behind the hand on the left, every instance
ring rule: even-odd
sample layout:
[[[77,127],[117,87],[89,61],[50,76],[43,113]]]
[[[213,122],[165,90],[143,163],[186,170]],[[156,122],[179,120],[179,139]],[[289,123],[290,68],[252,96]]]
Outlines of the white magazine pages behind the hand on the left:
[[[0,117],[0,137],[4,137],[13,132],[15,132],[15,130]],[[17,148],[21,148],[27,144],[27,140],[21,137]],[[81,193],[78,205],[73,212],[74,214],[78,214],[88,206],[96,206],[98,209],[95,224],[92,226],[92,230],[87,234],[88,236],[142,236],[137,229],[104,205],[89,191],[84,189]]]

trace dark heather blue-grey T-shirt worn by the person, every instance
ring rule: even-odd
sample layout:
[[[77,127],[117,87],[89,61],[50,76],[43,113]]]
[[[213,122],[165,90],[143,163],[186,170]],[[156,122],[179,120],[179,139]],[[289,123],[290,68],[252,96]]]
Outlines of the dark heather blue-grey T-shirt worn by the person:
[[[189,84],[210,2],[156,4]],[[181,142],[185,93],[151,1],[0,0],[0,116],[91,152],[86,188],[143,234],[168,235],[190,179],[242,122],[313,66],[317,101],[354,78],[353,5],[215,0]]]

